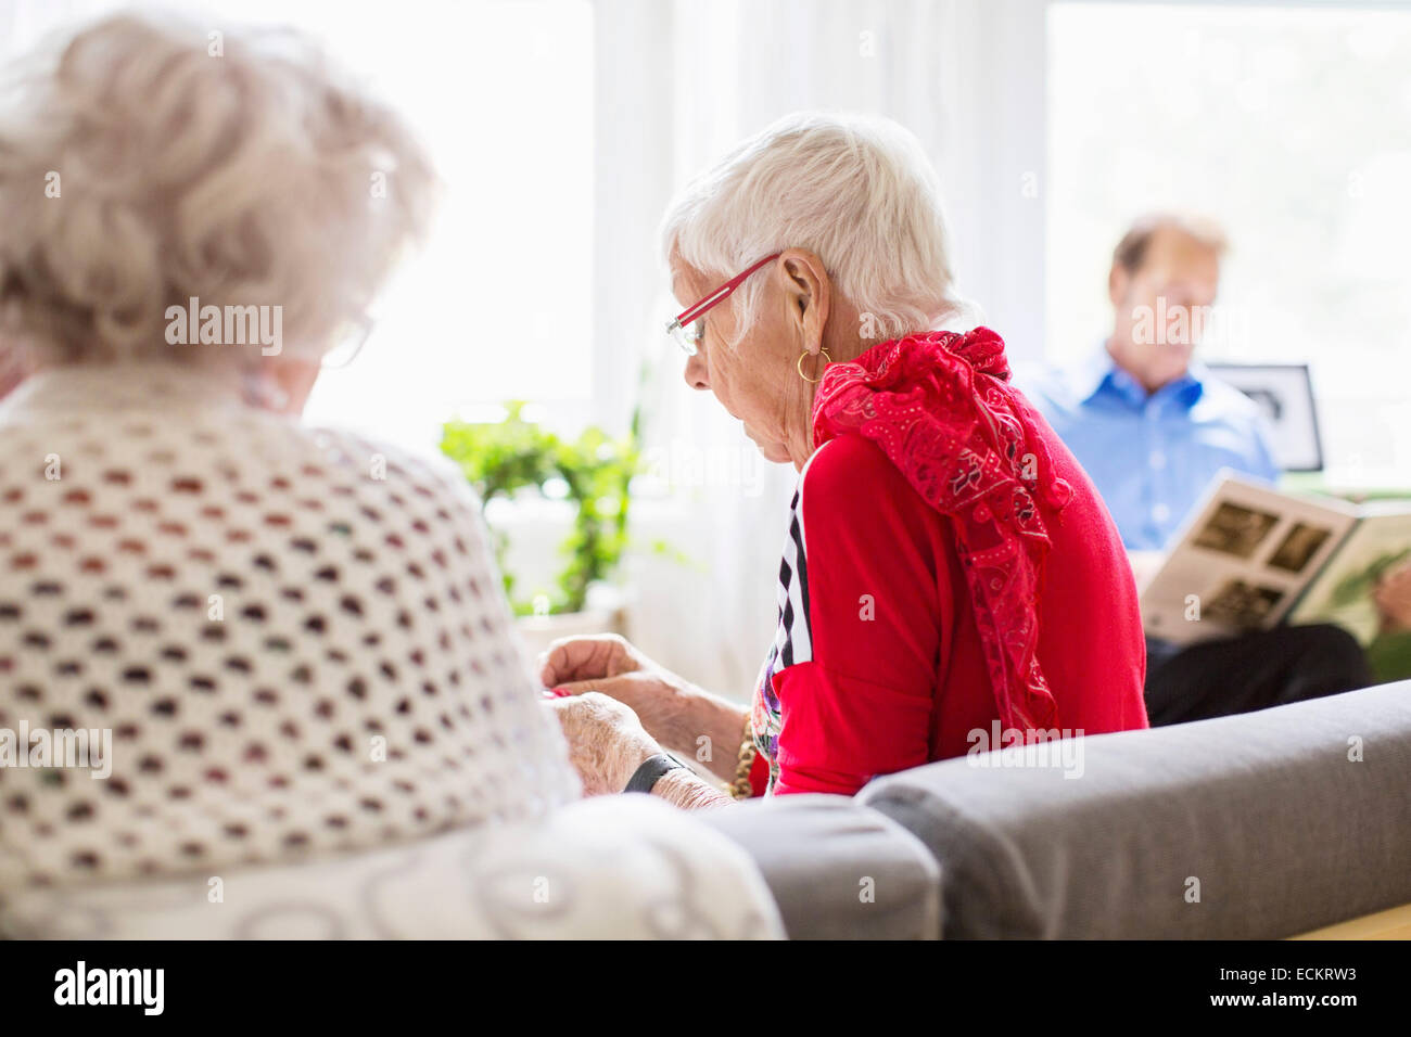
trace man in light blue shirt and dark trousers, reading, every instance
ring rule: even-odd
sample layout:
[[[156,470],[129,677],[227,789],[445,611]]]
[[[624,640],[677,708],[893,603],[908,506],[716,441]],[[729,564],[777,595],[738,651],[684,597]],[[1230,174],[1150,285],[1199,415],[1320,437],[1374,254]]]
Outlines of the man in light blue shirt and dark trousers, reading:
[[[1225,238],[1181,216],[1139,220],[1108,275],[1113,332],[1085,363],[1024,385],[1088,471],[1132,552],[1167,547],[1221,468],[1274,481],[1259,408],[1195,360]],[[1371,683],[1338,626],[1278,626],[1187,649],[1147,641],[1153,724],[1245,712]]]

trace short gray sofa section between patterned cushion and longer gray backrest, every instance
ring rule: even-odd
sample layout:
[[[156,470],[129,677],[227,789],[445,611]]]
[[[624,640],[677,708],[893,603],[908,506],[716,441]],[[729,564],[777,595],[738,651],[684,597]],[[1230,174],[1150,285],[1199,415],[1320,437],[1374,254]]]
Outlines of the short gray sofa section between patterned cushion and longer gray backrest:
[[[914,835],[845,796],[780,796],[704,811],[742,845],[793,940],[934,940],[935,858]]]

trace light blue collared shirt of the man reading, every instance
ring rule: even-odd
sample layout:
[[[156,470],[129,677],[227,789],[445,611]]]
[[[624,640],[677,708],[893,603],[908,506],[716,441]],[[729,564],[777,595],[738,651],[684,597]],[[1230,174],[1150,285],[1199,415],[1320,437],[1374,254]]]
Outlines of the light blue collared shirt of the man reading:
[[[1165,547],[1221,468],[1278,478],[1259,408],[1202,364],[1149,395],[1101,350],[1020,388],[1088,471],[1129,550]]]

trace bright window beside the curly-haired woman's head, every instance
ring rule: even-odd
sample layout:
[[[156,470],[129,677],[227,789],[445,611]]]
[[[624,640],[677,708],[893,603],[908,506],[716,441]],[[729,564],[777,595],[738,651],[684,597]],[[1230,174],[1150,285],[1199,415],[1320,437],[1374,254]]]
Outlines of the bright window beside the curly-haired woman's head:
[[[444,181],[426,248],[309,419],[415,449],[504,399],[587,413],[591,381],[593,6],[588,0],[240,4],[296,16],[422,133]],[[566,406],[563,406],[566,404]]]

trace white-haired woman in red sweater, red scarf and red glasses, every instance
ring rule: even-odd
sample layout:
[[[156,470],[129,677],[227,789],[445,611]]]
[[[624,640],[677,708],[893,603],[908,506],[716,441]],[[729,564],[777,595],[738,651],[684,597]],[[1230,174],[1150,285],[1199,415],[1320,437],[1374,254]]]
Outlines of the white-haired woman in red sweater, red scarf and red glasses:
[[[799,470],[779,624],[748,707],[621,638],[557,642],[546,684],[622,704],[577,732],[580,770],[717,806],[663,746],[708,756],[737,799],[852,794],[927,760],[1144,727],[1110,516],[1010,384],[1000,337],[934,330],[959,302],[914,137],[783,119],[693,181],[663,237],[687,385]]]

